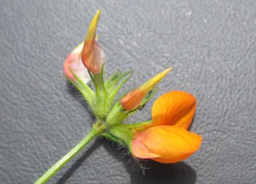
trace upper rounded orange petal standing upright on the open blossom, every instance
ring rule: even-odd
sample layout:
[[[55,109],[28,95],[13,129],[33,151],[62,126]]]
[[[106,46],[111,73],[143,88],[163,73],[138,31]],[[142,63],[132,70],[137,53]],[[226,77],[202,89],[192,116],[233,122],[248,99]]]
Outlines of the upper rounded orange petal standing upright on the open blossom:
[[[159,97],[152,106],[151,126],[174,125],[188,129],[196,111],[196,99],[183,91],[172,91]]]

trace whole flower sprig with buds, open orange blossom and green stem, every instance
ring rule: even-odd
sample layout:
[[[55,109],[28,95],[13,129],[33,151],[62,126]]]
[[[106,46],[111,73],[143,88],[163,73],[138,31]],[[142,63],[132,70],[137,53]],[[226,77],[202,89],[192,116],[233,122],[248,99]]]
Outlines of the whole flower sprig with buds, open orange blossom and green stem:
[[[118,94],[120,88],[131,78],[132,71],[116,72],[105,80],[106,55],[97,43],[96,36],[99,17],[100,10],[92,19],[85,41],[68,55],[63,65],[66,78],[81,92],[97,122],[93,124],[92,131],[36,183],[49,180],[97,136],[126,146],[134,158],[162,163],[184,160],[195,153],[202,143],[200,135],[188,131],[195,115],[196,99],[187,92],[172,91],[159,97],[152,106],[152,120],[124,124],[125,119],[136,113],[156,94],[159,90],[157,83],[172,67],[156,74],[135,90]],[[91,80],[93,85],[88,84]]]

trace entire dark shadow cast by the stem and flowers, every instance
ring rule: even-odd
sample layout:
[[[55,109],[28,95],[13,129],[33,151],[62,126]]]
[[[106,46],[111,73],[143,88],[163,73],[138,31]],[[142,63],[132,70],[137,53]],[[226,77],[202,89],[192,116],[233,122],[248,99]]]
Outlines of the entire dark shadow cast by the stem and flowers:
[[[69,82],[67,82],[67,90],[79,103],[81,103],[86,110],[90,113],[90,116],[94,119],[94,115],[86,101],[84,101],[80,92]],[[104,145],[104,148],[112,155],[116,160],[122,162],[126,167],[127,173],[130,174],[131,184],[194,184],[196,182],[196,171],[184,162],[178,162],[175,164],[161,164],[148,160],[141,162],[143,167],[148,169],[141,169],[138,163],[134,162],[128,154],[124,157],[124,152],[127,152],[125,148],[119,148],[116,144],[108,144],[104,139],[96,139],[95,143],[79,158],[75,164],[58,180],[56,184],[65,183],[70,176],[78,169],[84,160],[86,160],[90,154],[92,154],[97,148]]]

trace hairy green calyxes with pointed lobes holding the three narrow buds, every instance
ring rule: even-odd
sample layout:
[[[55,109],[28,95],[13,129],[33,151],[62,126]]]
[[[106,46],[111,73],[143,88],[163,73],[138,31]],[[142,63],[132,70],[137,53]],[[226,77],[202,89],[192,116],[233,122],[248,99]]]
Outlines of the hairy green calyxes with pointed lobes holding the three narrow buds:
[[[69,81],[81,92],[97,118],[97,122],[100,122],[101,125],[105,124],[104,129],[121,124],[140,107],[144,106],[156,94],[157,90],[159,90],[159,88],[154,88],[154,90],[148,92],[138,108],[132,111],[126,111],[120,104],[122,95],[118,94],[118,91],[131,78],[132,71],[125,73],[117,71],[106,81],[104,81],[104,66],[102,66],[99,74],[92,74],[88,71],[92,78],[94,88],[84,83],[71,69],[70,71],[76,81]]]

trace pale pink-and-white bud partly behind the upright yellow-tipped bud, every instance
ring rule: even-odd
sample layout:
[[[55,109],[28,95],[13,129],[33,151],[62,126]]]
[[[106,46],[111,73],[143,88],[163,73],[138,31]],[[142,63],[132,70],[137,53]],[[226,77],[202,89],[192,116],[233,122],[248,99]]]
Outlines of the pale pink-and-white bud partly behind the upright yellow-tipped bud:
[[[70,69],[84,82],[88,83],[91,78],[90,75],[84,67],[83,62],[81,60],[81,53],[83,50],[84,42],[80,43],[79,45],[72,50],[72,52],[68,55],[67,59],[63,64],[63,72],[67,78],[70,80],[76,81],[73,74],[70,72]]]

